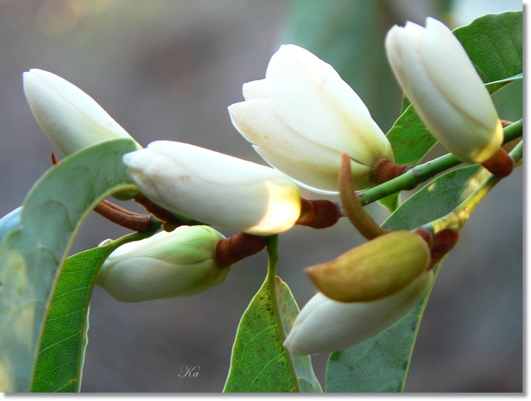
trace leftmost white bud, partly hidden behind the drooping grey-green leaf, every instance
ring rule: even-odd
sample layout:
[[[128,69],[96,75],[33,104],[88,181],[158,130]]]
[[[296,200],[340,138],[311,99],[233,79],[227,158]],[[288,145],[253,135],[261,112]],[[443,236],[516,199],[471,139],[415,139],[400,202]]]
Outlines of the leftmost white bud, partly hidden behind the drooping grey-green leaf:
[[[63,78],[33,68],[23,81],[33,116],[65,156],[106,139],[132,139],[93,98]]]

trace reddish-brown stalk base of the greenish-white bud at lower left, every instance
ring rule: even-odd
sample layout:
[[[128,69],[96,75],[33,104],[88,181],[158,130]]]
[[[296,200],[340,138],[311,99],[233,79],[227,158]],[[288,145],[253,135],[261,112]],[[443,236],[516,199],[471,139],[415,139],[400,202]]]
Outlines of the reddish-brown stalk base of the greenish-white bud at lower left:
[[[217,241],[216,259],[222,267],[229,267],[246,257],[255,255],[268,244],[269,236],[240,232]]]

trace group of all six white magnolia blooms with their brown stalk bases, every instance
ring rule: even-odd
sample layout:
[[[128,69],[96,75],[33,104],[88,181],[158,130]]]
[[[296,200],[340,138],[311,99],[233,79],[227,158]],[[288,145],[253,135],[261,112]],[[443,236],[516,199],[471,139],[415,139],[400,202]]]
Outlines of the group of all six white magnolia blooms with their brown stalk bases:
[[[385,48],[406,96],[449,151],[463,162],[488,164],[498,157],[498,114],[444,24],[429,18],[426,28],[411,22],[393,27]],[[66,156],[102,141],[134,141],[91,97],[52,73],[24,73],[24,92]],[[261,250],[266,236],[295,224],[334,224],[337,207],[302,199],[298,186],[339,193],[341,154],[348,156],[346,174],[358,190],[393,178],[382,173],[394,164],[392,146],[367,107],[332,66],[302,47],[282,45],[265,79],[243,84],[243,97],[229,106],[233,126],[272,167],[169,141],[145,149],[135,142],[138,150],[123,157],[143,196],[198,225],[115,250],[97,284],[118,301],[198,294],[223,282],[232,263]],[[323,219],[327,213],[330,221]],[[240,234],[224,239],[208,225]],[[332,262],[307,268],[320,292],[295,319],[284,346],[293,354],[335,351],[387,328],[426,296],[433,265],[456,238],[445,233],[443,241],[442,234],[422,229],[378,234]],[[253,250],[246,254],[244,248]]]

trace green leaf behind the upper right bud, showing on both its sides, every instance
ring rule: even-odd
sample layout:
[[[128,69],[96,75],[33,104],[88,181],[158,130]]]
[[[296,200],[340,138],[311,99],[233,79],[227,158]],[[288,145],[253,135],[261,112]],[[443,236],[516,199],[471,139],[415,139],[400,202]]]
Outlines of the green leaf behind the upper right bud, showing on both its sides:
[[[465,27],[454,29],[472,63],[494,93],[523,73],[522,11],[507,11],[479,17]],[[394,161],[416,165],[437,139],[410,105],[387,133]]]

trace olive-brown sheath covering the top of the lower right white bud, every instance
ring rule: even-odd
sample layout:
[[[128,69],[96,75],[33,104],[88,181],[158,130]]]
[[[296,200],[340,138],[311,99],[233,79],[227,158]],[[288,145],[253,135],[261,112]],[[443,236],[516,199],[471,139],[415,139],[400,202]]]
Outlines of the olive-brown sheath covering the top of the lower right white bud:
[[[430,250],[424,239],[410,231],[395,231],[305,271],[328,298],[364,302],[403,289],[426,271],[429,262]]]

